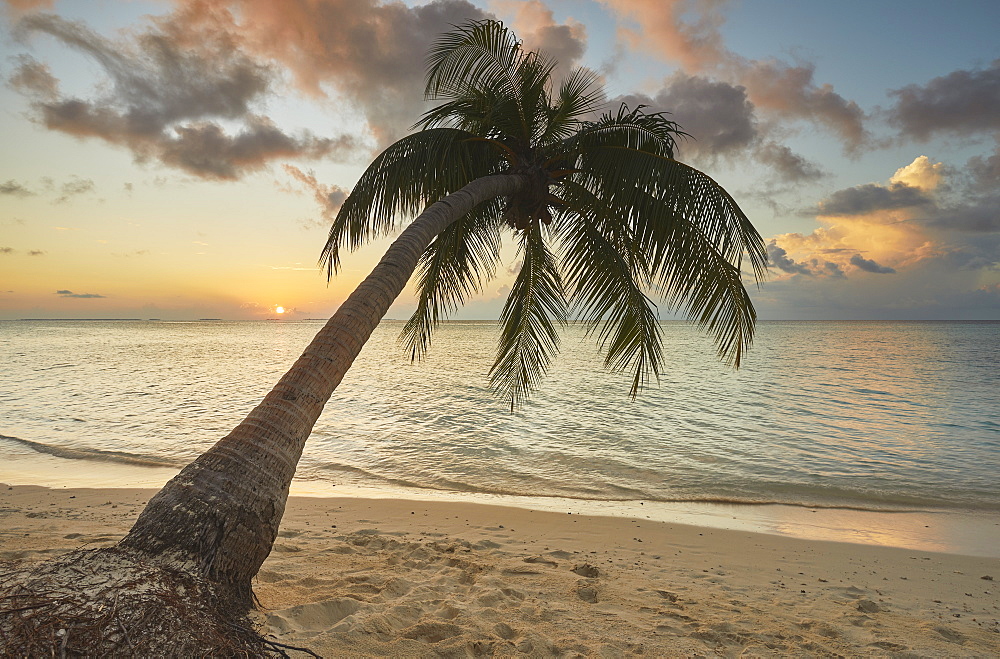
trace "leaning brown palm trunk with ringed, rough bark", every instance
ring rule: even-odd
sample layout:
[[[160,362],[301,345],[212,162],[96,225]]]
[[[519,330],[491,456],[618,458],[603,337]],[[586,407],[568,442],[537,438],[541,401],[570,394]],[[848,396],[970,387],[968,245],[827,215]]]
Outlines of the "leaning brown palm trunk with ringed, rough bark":
[[[420,255],[478,204],[526,185],[522,175],[483,177],[421,213],[264,400],[171,479],[119,545],[196,570],[250,606],[251,579],[271,552],[306,439]]]

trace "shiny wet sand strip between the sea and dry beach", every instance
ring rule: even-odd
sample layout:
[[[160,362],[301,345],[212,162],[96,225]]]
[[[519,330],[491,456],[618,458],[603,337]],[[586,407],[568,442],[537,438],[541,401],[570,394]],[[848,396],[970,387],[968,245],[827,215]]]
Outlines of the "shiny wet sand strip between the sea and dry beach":
[[[107,461],[88,461],[86,469],[79,469],[79,461],[52,455],[17,454],[10,457],[10,461],[0,465],[0,482],[53,489],[150,488],[155,492],[179,471],[172,467],[135,466]],[[1000,513],[989,511],[867,511],[781,503],[607,501],[415,488],[368,488],[300,479],[292,481],[291,495],[462,502],[575,515],[635,518],[804,540],[829,540],[1000,558]]]

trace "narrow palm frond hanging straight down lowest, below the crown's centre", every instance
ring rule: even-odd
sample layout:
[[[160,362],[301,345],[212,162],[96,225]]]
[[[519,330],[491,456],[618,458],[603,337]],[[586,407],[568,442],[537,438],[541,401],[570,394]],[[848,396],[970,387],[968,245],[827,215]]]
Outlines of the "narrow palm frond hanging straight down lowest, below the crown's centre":
[[[519,238],[521,271],[500,314],[497,357],[490,368],[490,385],[510,401],[512,411],[537,388],[559,349],[555,323],[566,319],[562,278],[542,228],[535,224]]]

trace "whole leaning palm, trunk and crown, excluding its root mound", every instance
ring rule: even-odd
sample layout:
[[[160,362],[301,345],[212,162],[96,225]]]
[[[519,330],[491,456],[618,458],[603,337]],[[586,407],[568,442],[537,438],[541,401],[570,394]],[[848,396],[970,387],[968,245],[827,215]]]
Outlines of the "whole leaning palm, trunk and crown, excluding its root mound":
[[[440,104],[362,175],[321,262],[332,276],[343,249],[415,219],[260,405],[153,497],[120,550],[249,606],[313,424],[390,304],[417,272],[403,338],[420,357],[435,325],[493,275],[505,231],[522,261],[490,382],[512,409],[570,315],[594,332],[607,367],[631,373],[635,396],[662,364],[650,296],[685,311],[739,365],[755,321],[741,266],[763,275],[760,236],[722,187],[674,159],[675,123],[624,105],[588,120],[603,99],[597,76],[578,70],[554,88],[552,69],[495,21],[437,42],[426,95]]]

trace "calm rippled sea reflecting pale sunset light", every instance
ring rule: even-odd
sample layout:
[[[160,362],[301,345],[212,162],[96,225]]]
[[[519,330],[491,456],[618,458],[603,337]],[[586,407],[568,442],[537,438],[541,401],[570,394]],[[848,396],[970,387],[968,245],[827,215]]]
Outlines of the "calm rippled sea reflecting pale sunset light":
[[[0,459],[182,466],[292,364],[318,321],[0,322]],[[1000,511],[1000,324],[764,322],[738,372],[665,323],[659,386],[628,399],[567,328],[511,414],[495,324],[452,322],[411,364],[376,331],[306,445],[337,485],[596,500]]]

